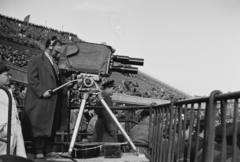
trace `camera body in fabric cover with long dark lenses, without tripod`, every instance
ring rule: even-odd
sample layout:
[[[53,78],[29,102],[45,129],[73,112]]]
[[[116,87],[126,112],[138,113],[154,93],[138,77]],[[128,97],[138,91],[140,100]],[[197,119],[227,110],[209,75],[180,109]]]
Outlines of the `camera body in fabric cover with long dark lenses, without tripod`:
[[[68,69],[108,77],[112,71],[137,74],[131,65],[143,66],[143,59],[113,55],[115,49],[104,44],[77,42],[64,44],[59,60],[60,69]]]

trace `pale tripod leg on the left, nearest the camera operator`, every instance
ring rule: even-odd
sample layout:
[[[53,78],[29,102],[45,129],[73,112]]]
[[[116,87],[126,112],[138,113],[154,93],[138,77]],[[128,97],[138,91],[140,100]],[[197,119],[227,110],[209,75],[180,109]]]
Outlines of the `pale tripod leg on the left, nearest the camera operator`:
[[[79,129],[79,126],[80,126],[80,123],[81,123],[83,110],[84,110],[84,107],[85,107],[85,104],[86,104],[87,97],[88,97],[88,94],[84,93],[83,99],[82,99],[82,102],[81,102],[81,105],[80,105],[80,108],[79,108],[77,121],[76,121],[76,124],[75,124],[75,127],[74,127],[72,139],[71,139],[71,142],[70,142],[70,146],[69,146],[69,150],[68,150],[68,157],[72,156],[73,147],[74,147],[74,144],[76,142],[78,129]]]

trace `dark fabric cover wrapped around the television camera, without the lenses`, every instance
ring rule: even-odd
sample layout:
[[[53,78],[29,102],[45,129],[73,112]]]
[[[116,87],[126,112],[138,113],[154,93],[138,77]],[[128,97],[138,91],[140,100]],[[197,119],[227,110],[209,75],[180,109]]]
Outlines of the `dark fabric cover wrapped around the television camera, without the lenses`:
[[[109,75],[112,48],[103,44],[79,42],[62,46],[60,69]]]

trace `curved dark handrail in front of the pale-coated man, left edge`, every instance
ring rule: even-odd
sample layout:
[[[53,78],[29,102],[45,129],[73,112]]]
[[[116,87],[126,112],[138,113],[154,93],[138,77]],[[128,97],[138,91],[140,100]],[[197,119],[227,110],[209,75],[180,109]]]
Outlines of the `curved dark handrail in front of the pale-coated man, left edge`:
[[[8,126],[7,126],[7,140],[1,140],[2,142],[7,143],[7,155],[10,155],[10,144],[11,144],[11,121],[12,121],[12,97],[11,97],[11,93],[9,92],[9,90],[0,85],[0,89],[4,90],[7,95],[8,95]]]

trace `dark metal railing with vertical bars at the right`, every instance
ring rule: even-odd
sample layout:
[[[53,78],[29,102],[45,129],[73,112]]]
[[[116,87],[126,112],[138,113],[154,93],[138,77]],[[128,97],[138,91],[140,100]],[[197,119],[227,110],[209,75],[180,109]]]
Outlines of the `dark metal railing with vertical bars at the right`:
[[[232,158],[232,162],[235,162],[238,151],[239,98],[240,92],[222,94],[220,91],[213,91],[209,97],[152,106],[150,127],[153,127],[153,131],[149,136],[151,162],[213,162],[216,158],[219,158],[219,161]],[[229,100],[234,100],[231,144],[226,142],[226,115]],[[221,112],[221,143],[216,142],[215,136],[217,108]],[[203,140],[199,137],[200,120],[204,120]],[[226,152],[229,147],[230,156]]]

